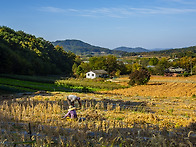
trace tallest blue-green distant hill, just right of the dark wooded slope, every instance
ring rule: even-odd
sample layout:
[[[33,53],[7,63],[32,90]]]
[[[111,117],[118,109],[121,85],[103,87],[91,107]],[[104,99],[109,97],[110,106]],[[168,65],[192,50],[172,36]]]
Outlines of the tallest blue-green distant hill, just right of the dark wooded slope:
[[[71,51],[77,55],[81,54],[115,54],[121,55],[124,51],[110,50],[98,46],[93,46],[80,40],[61,40],[52,42],[53,45],[62,46],[65,51]]]

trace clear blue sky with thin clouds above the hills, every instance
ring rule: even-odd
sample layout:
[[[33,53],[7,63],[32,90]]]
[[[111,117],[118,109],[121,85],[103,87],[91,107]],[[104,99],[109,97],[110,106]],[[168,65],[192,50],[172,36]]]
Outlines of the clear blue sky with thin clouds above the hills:
[[[0,25],[109,49],[189,47],[196,45],[196,0],[1,0]]]

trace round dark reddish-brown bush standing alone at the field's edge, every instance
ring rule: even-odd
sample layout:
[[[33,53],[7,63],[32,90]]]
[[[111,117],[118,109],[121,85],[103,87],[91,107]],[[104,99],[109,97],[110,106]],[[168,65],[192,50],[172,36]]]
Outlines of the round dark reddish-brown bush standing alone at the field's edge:
[[[150,73],[147,69],[141,68],[140,70],[135,70],[129,76],[129,85],[145,85],[150,80]]]

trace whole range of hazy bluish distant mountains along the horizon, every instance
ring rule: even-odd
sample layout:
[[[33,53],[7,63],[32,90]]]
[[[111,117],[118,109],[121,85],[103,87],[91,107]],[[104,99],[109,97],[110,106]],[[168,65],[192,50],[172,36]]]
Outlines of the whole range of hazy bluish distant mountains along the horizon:
[[[144,49],[141,47],[129,48],[129,47],[118,47],[113,50],[93,46],[91,44],[85,43],[81,40],[59,40],[52,42],[54,46],[62,46],[65,51],[71,51],[77,55],[122,55],[122,56],[134,56],[137,54],[148,54],[148,55],[171,55],[171,54],[182,54],[179,56],[187,55],[187,51],[195,54],[196,46],[181,48],[181,49]],[[189,53],[190,54],[190,53]],[[193,55],[192,54],[192,55]]]

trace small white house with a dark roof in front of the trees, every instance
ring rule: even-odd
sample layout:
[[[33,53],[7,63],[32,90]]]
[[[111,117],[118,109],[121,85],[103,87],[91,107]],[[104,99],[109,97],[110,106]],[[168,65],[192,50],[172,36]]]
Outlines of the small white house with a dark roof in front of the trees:
[[[107,78],[108,73],[105,70],[92,70],[86,73],[86,78],[94,79],[94,78]]]

